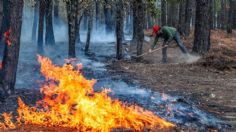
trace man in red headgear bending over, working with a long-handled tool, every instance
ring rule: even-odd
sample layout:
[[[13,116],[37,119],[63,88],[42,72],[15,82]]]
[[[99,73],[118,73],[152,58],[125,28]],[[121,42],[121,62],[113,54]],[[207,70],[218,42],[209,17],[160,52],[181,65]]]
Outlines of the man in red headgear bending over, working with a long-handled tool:
[[[184,54],[188,53],[187,49],[185,48],[182,41],[180,40],[180,35],[179,35],[179,32],[176,30],[176,28],[168,27],[168,26],[160,27],[158,25],[154,25],[152,36],[155,36],[155,35],[156,35],[155,41],[152,44],[151,49],[149,50],[149,52],[152,52],[152,50],[156,47],[158,39],[163,38],[164,39],[164,43],[162,45],[164,47],[162,49],[162,62],[163,63],[167,63],[167,47],[165,47],[165,46],[168,46],[168,44],[170,44],[170,42],[172,40],[175,40],[175,42],[179,46],[180,50]]]

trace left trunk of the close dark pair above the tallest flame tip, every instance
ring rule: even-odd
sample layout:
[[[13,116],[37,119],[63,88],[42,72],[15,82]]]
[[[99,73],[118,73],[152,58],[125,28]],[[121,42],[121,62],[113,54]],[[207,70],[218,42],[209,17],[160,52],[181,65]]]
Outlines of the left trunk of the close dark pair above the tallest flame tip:
[[[46,1],[39,1],[39,25],[38,25],[38,52],[43,52],[43,33],[44,33],[44,20],[45,20],[45,7]]]

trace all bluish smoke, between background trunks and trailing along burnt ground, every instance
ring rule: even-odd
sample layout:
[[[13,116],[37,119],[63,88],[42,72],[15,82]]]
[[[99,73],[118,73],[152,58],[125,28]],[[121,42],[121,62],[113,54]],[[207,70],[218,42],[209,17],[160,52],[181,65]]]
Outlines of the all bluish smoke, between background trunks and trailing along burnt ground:
[[[37,44],[33,43],[31,40],[33,26],[33,10],[30,8],[24,8],[23,24],[22,24],[22,34],[21,34],[21,47],[20,47],[20,58],[17,69],[17,79],[16,88],[39,88],[37,85],[39,80],[43,80],[40,75],[40,67],[37,62]],[[83,25],[81,25],[83,27]],[[130,27],[131,28],[131,27]],[[82,28],[81,28],[82,29]],[[129,31],[129,30],[127,30]],[[86,41],[86,29],[81,30],[81,40]],[[54,35],[56,40],[56,45],[54,47],[44,46],[44,55],[52,59],[56,64],[63,64],[63,60],[67,58],[68,51],[68,27],[65,22],[61,22],[54,25]],[[125,38],[131,38],[132,35],[129,32],[125,32]],[[98,24],[92,30],[92,45],[93,49],[97,54],[103,54],[107,57],[111,57],[115,54],[115,33],[106,33],[105,26],[103,24]],[[79,62],[83,63],[85,68],[90,69],[90,74],[92,78],[98,78],[98,83],[95,87],[110,87],[113,88],[116,93],[116,97],[123,99],[124,101],[130,101],[131,103],[137,102],[139,105],[144,106],[152,111],[158,112],[169,119],[170,121],[175,121],[182,123],[186,120],[191,120],[193,123],[199,124],[201,126],[207,124],[218,124],[215,118],[199,111],[197,108],[186,106],[185,103],[178,103],[175,101],[177,99],[168,97],[170,100],[163,102],[159,93],[143,89],[141,86],[135,84],[128,84],[122,81],[122,77],[119,76],[117,81],[112,80],[112,78],[106,74],[106,65],[98,61],[94,61],[83,54],[83,51],[79,50],[78,47],[82,45],[76,44],[77,56]],[[187,63],[193,63],[197,61],[200,57],[188,55],[186,58]],[[97,58],[96,58],[97,59]],[[129,80],[130,81],[130,80]],[[174,103],[173,103],[174,102]],[[177,102],[177,103],[176,103]],[[172,105],[172,110],[176,116],[165,116],[166,110],[163,109],[163,104]],[[189,109],[191,108],[191,109]],[[161,111],[160,111],[161,110]],[[189,115],[189,112],[193,113]],[[197,119],[197,120],[196,120]],[[201,122],[199,122],[199,120]]]

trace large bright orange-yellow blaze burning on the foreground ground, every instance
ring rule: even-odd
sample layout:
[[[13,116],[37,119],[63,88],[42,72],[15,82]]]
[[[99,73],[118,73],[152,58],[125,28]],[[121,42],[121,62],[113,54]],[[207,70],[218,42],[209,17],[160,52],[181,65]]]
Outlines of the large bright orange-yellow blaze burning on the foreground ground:
[[[109,89],[94,92],[96,81],[87,80],[81,74],[81,64],[59,67],[48,58],[39,56],[38,60],[46,78],[41,88],[44,98],[34,107],[18,99],[19,125],[68,127],[81,131],[110,131],[113,128],[141,131],[143,128],[174,127],[172,123],[141,107],[126,106],[118,100],[112,100],[107,95]],[[7,126],[11,124],[5,123]]]

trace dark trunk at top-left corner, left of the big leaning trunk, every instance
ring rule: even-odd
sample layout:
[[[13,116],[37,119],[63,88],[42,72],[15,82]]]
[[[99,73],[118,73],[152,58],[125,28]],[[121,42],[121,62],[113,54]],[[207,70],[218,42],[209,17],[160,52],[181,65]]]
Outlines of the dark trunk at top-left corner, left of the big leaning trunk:
[[[10,9],[8,6],[8,0],[3,0],[3,17],[2,17],[2,25],[0,30],[0,37],[8,30],[9,27],[9,19],[10,19]]]

